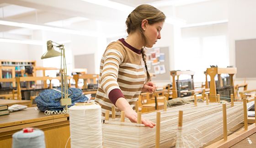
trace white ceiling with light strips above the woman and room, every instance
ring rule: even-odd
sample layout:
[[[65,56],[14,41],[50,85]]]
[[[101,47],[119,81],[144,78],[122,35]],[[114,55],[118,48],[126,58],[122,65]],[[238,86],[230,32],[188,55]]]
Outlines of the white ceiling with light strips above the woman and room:
[[[88,36],[105,32],[111,36],[117,32],[94,25],[124,24],[128,14],[141,4],[160,8],[204,1],[209,0],[0,0],[0,38],[33,39],[33,31],[42,27]],[[171,19],[183,21],[175,16]]]

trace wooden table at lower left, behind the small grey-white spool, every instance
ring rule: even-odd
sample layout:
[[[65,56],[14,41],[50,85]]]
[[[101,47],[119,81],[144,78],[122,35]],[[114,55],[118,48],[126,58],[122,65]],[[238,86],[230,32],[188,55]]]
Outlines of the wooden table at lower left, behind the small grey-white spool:
[[[46,148],[65,148],[70,131],[68,114],[45,115],[37,107],[29,107],[0,116],[0,148],[11,148],[12,134],[22,128],[39,128],[45,135]],[[70,148],[70,140],[66,148]]]

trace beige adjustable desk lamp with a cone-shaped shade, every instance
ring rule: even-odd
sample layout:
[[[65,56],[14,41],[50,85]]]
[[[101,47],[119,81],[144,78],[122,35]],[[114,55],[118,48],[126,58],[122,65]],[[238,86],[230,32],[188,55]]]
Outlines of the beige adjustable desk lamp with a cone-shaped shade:
[[[53,43],[57,44],[57,46],[53,45]],[[53,46],[58,47],[61,52],[55,51]],[[61,106],[72,105],[71,98],[69,98],[69,93],[68,93],[67,65],[66,65],[64,45],[55,43],[53,41],[47,41],[47,51],[43,54],[43,56],[41,56],[41,59],[46,59],[46,58],[55,57],[55,56],[61,56],[60,74],[61,74],[62,95],[60,99],[60,105]],[[63,68],[62,68],[62,61],[63,61]]]

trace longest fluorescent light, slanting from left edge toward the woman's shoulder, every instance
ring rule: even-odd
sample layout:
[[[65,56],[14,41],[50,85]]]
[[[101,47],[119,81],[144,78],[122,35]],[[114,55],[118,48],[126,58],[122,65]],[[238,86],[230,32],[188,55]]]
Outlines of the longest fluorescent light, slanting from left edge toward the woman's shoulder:
[[[98,37],[103,35],[103,33],[96,32],[96,31],[73,30],[73,29],[60,28],[55,26],[47,26],[43,24],[37,25],[32,23],[17,22],[17,20],[4,19],[4,18],[0,18],[0,25],[16,26],[16,27],[35,29],[35,30],[54,31],[54,32],[75,34],[75,35],[81,35],[81,36]]]

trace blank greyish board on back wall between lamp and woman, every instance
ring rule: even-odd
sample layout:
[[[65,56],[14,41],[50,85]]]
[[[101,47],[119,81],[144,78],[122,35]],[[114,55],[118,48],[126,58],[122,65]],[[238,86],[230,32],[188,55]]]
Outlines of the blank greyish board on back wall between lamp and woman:
[[[77,55],[74,61],[75,68],[86,68],[87,74],[95,73],[94,54]]]

